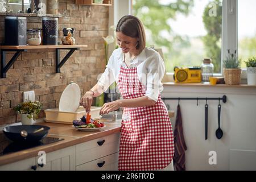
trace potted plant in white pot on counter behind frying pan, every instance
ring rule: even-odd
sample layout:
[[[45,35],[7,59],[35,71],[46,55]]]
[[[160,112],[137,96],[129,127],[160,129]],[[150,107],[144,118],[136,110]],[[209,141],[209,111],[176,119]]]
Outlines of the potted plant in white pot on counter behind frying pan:
[[[27,101],[18,104],[13,109],[21,114],[22,125],[31,125],[38,118],[38,114],[42,110],[42,104],[39,101]]]

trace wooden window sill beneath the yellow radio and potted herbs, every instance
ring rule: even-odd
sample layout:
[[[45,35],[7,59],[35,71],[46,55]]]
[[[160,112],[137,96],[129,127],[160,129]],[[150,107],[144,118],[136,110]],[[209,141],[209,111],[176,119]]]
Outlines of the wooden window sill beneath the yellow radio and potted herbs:
[[[217,85],[210,85],[210,84],[203,84],[203,83],[196,83],[196,84],[176,84],[175,82],[164,82],[163,86],[200,86],[200,87],[220,87],[220,88],[256,88],[256,85],[225,85],[225,84],[217,84]]]

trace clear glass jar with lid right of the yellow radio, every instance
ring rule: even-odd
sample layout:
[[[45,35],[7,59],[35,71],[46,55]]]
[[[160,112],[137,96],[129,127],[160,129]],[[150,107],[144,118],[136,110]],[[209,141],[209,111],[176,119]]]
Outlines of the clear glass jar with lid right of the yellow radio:
[[[212,64],[212,59],[205,58],[203,60],[203,64],[201,65],[201,74],[203,82],[210,81],[210,77],[213,77],[213,69],[214,65]]]

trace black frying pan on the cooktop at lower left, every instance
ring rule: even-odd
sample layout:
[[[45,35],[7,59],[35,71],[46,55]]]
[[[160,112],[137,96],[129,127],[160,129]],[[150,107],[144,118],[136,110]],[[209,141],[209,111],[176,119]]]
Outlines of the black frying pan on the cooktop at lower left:
[[[35,131],[41,129],[36,133]],[[18,125],[18,126],[7,126],[3,128],[3,133],[7,138],[13,140],[13,142],[38,142],[40,139],[43,139],[48,134],[48,126],[42,125]],[[27,137],[22,137],[20,131],[27,131]]]

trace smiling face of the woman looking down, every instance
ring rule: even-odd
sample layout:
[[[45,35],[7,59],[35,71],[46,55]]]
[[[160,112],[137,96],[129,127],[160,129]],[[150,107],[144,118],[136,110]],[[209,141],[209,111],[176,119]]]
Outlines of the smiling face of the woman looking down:
[[[123,34],[122,32],[117,32],[117,44],[122,49],[123,53],[135,52],[138,39],[132,38]]]

